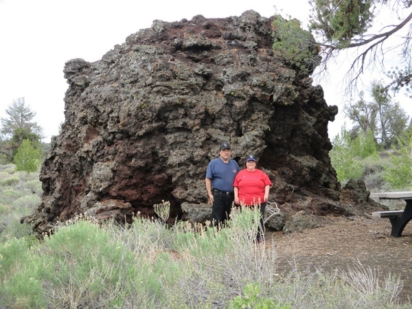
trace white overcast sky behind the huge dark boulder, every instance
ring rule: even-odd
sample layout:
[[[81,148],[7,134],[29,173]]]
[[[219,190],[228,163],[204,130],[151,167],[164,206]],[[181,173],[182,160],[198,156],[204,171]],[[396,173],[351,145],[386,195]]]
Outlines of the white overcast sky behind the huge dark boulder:
[[[24,97],[49,142],[64,121],[65,62],[100,60],[155,19],[190,20],[198,14],[223,18],[246,10],[266,17],[280,12],[305,21],[309,6],[307,0],[0,0],[0,117],[7,117],[5,109],[13,100]],[[339,133],[344,121],[343,73],[345,67],[333,66],[330,81],[320,82],[328,105],[340,109],[329,126],[330,137]]]

